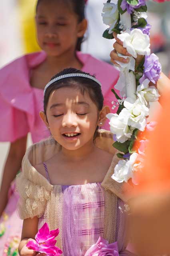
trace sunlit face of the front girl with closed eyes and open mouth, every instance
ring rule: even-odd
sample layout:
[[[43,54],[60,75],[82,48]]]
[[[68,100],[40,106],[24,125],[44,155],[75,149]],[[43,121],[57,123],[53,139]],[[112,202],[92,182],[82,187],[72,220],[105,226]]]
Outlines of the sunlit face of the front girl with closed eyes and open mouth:
[[[50,95],[46,116],[53,138],[67,150],[93,142],[98,109],[87,93],[77,88],[60,88]],[[74,135],[74,136],[73,136]]]

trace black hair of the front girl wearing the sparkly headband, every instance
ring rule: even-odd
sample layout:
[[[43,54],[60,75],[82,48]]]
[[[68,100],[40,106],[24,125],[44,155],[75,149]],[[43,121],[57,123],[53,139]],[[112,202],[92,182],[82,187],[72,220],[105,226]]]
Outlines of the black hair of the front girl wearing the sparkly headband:
[[[51,80],[53,80],[54,78],[57,78],[59,76],[66,75],[66,74],[72,74],[72,73],[80,73],[80,74],[90,75],[89,73],[83,72],[76,68],[66,68],[63,71],[61,71],[60,73],[53,76],[51,78]],[[95,76],[93,76],[93,77],[95,78]],[[60,79],[60,80],[52,83],[46,89],[45,94],[44,94],[44,113],[45,113],[45,115],[46,115],[48,100],[49,100],[52,92],[54,92],[54,90],[57,90],[59,88],[64,88],[64,87],[77,88],[78,90],[80,90],[82,95],[87,93],[89,95],[90,99],[92,100],[92,102],[94,102],[94,104],[96,104],[98,112],[100,112],[102,110],[104,98],[103,98],[101,86],[97,82],[95,82],[87,77],[79,77],[78,76],[78,77],[68,77],[68,78]],[[96,138],[97,131],[98,131],[98,126],[97,126],[96,132],[94,134],[94,139]]]

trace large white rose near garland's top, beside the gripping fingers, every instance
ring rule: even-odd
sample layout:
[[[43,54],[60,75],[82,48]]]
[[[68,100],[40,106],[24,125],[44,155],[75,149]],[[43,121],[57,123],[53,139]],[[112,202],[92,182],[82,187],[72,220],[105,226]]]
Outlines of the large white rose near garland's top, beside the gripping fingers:
[[[150,39],[149,36],[135,28],[133,30],[126,30],[122,34],[117,35],[123,42],[124,48],[127,49],[134,58],[139,55],[150,55]]]

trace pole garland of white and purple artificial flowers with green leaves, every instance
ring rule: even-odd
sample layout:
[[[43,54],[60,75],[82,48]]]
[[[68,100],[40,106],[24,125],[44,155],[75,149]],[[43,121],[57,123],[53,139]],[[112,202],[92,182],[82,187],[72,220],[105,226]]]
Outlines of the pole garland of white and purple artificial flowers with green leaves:
[[[147,124],[147,117],[150,102],[158,101],[160,95],[156,87],[149,84],[156,84],[160,78],[161,65],[158,57],[150,54],[151,26],[147,22],[146,12],[145,0],[108,0],[102,12],[103,22],[109,26],[103,37],[113,39],[113,32],[116,32],[123,47],[131,54],[131,57],[118,54],[122,58],[129,58],[129,62],[124,64],[117,61],[120,77],[115,88],[120,90],[122,98],[112,89],[118,100],[118,110],[116,114],[107,115],[110,131],[116,141],[113,146],[122,152],[117,154],[122,160],[116,165],[112,176],[117,182],[132,179],[134,184],[138,183],[135,174],[143,167],[148,142],[146,132],[155,126],[153,122]],[[137,55],[142,56],[138,65],[135,63]]]

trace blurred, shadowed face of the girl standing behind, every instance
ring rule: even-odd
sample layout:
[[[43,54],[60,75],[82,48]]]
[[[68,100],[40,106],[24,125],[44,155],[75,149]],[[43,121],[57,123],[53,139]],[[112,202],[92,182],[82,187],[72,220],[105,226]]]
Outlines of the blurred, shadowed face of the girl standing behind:
[[[84,36],[86,20],[78,22],[71,4],[63,0],[42,0],[36,13],[37,39],[48,56],[74,51],[77,40]]]

